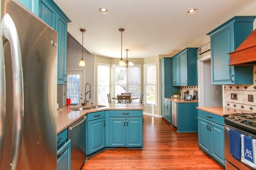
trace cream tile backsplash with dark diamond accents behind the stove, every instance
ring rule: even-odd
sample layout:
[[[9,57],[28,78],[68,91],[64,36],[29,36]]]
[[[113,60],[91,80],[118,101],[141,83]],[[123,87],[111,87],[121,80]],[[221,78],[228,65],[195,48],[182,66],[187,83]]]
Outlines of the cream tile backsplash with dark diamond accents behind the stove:
[[[253,85],[224,85],[225,106],[256,112],[256,66],[253,67]],[[237,94],[237,100],[231,99],[231,93]],[[253,95],[254,102],[248,102],[248,94]]]

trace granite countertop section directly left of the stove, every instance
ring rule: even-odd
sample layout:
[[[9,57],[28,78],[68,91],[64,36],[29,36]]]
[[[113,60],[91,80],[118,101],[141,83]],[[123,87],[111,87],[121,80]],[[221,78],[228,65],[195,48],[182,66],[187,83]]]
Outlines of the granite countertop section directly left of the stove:
[[[235,109],[232,107],[222,107],[222,106],[217,106],[217,107],[196,107],[197,109],[200,109],[202,111],[207,111],[209,113],[213,113],[216,115],[220,116],[225,116],[225,115],[231,115],[234,113],[254,113],[252,111],[245,111],[242,109]]]

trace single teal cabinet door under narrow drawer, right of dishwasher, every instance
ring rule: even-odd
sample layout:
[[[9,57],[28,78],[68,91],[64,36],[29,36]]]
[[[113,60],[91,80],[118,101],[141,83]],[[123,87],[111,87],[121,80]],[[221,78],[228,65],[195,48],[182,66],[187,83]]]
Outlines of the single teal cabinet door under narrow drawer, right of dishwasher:
[[[86,155],[105,148],[105,118],[88,121]]]

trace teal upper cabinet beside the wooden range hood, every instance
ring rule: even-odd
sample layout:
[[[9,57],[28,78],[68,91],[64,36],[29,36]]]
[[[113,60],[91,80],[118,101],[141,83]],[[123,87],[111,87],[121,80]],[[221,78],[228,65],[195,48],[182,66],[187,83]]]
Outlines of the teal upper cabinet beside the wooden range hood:
[[[211,41],[212,84],[253,84],[253,66],[228,66],[228,53],[252,33],[255,18],[235,16],[207,34]]]

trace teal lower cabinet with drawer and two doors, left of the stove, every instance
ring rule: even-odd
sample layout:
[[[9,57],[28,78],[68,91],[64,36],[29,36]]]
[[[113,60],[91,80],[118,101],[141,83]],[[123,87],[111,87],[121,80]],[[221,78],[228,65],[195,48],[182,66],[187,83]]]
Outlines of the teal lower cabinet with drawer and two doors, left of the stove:
[[[223,116],[198,110],[198,145],[225,166]]]

